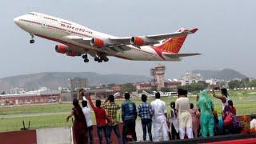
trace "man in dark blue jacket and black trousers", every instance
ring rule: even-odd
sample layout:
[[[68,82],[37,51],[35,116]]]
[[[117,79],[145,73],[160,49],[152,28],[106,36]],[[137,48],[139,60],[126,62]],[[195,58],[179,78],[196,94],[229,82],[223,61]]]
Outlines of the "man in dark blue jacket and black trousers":
[[[130,101],[130,94],[125,94],[126,101],[122,103],[122,141],[127,142],[126,135],[128,131],[132,134],[133,141],[137,141],[135,126],[137,118],[137,110],[134,102]]]

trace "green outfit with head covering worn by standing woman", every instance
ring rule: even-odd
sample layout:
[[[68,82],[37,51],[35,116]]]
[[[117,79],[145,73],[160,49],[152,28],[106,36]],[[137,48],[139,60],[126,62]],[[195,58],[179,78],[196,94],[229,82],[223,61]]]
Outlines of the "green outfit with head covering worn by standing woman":
[[[206,90],[202,90],[199,93],[199,100],[197,103],[198,109],[200,109],[200,126],[202,137],[206,138],[207,134],[210,137],[214,136],[214,103],[209,97]]]

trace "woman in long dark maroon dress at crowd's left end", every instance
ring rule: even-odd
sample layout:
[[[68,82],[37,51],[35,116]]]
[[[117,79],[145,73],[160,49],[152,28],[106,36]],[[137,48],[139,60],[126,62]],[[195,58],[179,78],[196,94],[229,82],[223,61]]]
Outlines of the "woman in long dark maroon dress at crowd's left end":
[[[86,144],[87,142],[87,124],[86,118],[82,113],[82,109],[79,106],[78,99],[74,98],[73,100],[73,108],[70,114],[66,117],[66,122],[69,121],[69,118],[74,115],[74,143],[76,144]]]

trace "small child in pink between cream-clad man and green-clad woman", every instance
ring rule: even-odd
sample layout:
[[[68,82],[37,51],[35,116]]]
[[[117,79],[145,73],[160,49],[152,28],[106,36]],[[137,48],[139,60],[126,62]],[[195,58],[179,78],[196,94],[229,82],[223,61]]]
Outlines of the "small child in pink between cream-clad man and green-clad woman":
[[[194,138],[198,138],[199,117],[198,110],[194,108],[193,103],[190,103],[190,114],[192,115],[192,130]]]

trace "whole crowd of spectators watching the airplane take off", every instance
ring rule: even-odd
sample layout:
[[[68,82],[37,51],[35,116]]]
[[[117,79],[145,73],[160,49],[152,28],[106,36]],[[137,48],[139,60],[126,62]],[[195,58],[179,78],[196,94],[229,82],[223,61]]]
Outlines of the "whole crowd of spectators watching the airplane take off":
[[[142,94],[142,103],[138,106],[130,100],[130,94],[124,94],[125,101],[122,106],[114,102],[114,95],[110,95],[104,103],[101,100],[92,102],[90,94],[85,96],[83,90],[78,91],[78,98],[74,98],[70,115],[74,116],[74,141],[80,143],[94,143],[92,134],[92,120],[90,117],[90,107],[94,111],[96,118],[96,128],[98,140],[103,143],[103,134],[107,144],[110,143],[112,130],[118,138],[118,143],[137,141],[136,119],[140,117],[142,123],[143,140],[146,141],[146,134],[149,140],[154,142],[168,141],[184,138],[206,138],[219,134],[238,134],[242,130],[242,122],[238,121],[236,109],[226,89],[220,89],[221,94],[213,96],[222,102],[222,112],[218,113],[214,109],[212,98],[207,90],[202,90],[196,97],[196,106],[187,97],[187,90],[178,89],[178,98],[175,102],[170,102],[170,113],[167,112],[166,102],[161,100],[159,93],[155,94],[153,102],[147,102],[147,96]],[[82,99],[82,107],[79,105]],[[90,104],[90,107],[88,104]],[[122,136],[118,126],[117,113],[122,112]],[[218,118],[218,114],[221,117]],[[154,133],[151,129],[153,125]],[[168,126],[170,125],[170,126]],[[256,116],[252,115],[251,128],[256,128]],[[89,137],[88,137],[89,135]],[[129,137],[130,136],[130,137]]]

